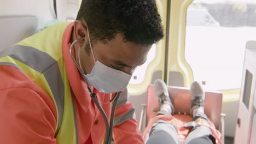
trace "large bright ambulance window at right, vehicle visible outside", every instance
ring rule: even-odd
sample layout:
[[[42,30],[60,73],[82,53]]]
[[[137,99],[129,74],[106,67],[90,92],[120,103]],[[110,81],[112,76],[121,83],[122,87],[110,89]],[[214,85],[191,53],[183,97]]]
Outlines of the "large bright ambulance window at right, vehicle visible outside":
[[[194,80],[215,90],[240,88],[246,42],[255,33],[256,1],[193,1],[187,9],[185,59]]]

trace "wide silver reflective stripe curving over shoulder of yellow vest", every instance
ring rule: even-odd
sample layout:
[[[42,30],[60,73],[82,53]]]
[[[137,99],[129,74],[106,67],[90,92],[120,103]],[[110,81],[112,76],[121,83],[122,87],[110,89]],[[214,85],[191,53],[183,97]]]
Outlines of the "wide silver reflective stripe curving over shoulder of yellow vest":
[[[37,50],[34,47],[22,45],[14,45],[5,49],[0,53],[0,58],[4,56],[14,58],[44,75],[53,93],[58,110],[57,114],[59,118],[55,133],[56,136],[62,122],[64,105],[64,85],[57,61],[46,52]]]

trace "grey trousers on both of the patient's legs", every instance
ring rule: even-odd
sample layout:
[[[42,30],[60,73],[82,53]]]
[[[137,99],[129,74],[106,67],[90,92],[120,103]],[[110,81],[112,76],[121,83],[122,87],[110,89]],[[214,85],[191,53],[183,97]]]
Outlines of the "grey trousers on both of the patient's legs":
[[[201,117],[203,121],[210,122],[205,113],[197,113],[193,117],[193,121]],[[178,134],[176,127],[162,119],[158,119],[156,123],[153,124],[150,131],[149,139],[147,144],[162,144],[162,143],[173,143],[178,144]],[[194,127],[190,130],[185,144],[212,144],[215,143],[215,139],[212,136],[212,131],[205,125]]]

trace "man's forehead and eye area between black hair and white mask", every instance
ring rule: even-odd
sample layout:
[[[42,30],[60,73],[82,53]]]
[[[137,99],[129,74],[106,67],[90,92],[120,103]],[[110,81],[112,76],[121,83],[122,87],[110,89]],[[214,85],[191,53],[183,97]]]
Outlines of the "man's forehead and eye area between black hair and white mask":
[[[88,50],[88,48],[90,48],[88,46],[88,44],[87,46],[85,45],[85,49]],[[110,68],[132,74],[133,70],[135,70],[138,65],[142,65],[146,62],[150,47],[151,46],[134,44],[129,41],[124,42],[123,35],[117,34],[114,39],[108,41],[106,44],[102,41],[97,41],[92,44],[92,51],[96,61],[98,60]],[[92,63],[89,68],[91,71],[94,66],[92,53],[90,52],[88,56]]]

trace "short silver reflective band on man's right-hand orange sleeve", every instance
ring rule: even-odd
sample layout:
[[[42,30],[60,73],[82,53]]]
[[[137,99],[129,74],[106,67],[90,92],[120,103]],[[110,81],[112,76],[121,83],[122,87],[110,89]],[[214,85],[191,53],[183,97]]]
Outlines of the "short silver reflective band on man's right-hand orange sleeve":
[[[122,124],[123,122],[126,122],[130,119],[135,118],[135,109],[134,107],[131,107],[131,109],[129,111],[127,111],[126,113],[124,113],[123,115],[120,115],[118,117],[114,118],[114,127]]]

